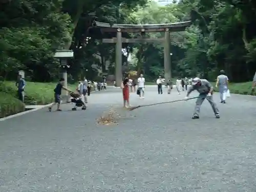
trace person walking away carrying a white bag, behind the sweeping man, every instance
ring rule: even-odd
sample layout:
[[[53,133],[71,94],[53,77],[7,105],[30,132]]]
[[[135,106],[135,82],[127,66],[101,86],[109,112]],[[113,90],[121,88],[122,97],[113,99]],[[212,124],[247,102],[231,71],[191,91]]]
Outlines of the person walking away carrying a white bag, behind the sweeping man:
[[[226,103],[227,90],[228,90],[228,77],[225,75],[225,71],[221,70],[220,75],[217,77],[216,88],[219,87],[221,103]]]

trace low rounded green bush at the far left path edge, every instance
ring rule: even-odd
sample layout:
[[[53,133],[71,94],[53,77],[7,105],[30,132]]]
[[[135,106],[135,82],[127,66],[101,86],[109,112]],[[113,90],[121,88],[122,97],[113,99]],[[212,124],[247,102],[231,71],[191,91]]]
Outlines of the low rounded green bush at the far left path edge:
[[[25,111],[25,105],[10,94],[0,92],[0,118]]]

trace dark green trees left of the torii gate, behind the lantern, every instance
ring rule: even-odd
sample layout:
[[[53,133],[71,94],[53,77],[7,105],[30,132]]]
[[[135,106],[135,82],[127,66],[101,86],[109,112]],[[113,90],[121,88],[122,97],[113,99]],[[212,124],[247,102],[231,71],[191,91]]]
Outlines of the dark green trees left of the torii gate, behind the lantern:
[[[74,51],[75,57],[69,60],[69,74],[75,79],[80,75],[97,75],[100,61],[95,54],[100,54],[96,50],[99,42],[91,39],[89,44],[85,43],[93,13],[103,22],[122,22],[120,7],[130,10],[145,3],[144,0],[4,2],[0,3],[0,76],[13,79],[19,70],[25,70],[26,79],[33,81],[59,77],[59,61],[53,58],[57,49]]]

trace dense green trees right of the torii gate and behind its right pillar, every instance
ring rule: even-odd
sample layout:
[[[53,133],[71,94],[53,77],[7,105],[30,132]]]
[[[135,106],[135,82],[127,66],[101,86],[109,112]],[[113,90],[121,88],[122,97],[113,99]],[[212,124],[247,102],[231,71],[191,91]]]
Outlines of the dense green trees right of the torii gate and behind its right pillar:
[[[130,17],[136,24],[193,21],[185,32],[171,35],[173,76],[200,74],[214,80],[219,70],[224,69],[232,81],[248,81],[256,70],[256,30],[253,28],[256,4],[252,1],[235,2],[183,0],[165,7],[151,3]],[[162,74],[163,47],[147,44],[136,45],[136,48],[132,63],[137,63],[140,56],[140,65],[146,74]]]

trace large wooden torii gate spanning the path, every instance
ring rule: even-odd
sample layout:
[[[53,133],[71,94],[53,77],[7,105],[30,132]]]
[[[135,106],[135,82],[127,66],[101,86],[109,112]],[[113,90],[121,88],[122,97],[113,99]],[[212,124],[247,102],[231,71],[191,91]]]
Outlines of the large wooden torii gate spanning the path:
[[[156,42],[164,46],[164,78],[172,78],[172,67],[170,66],[170,32],[184,31],[186,27],[191,25],[191,21],[173,23],[173,24],[151,24],[151,25],[128,25],[95,22],[102,32],[116,32],[116,38],[102,39],[103,43],[116,44],[116,62],[115,62],[115,79],[117,87],[120,86],[122,80],[122,42]],[[122,33],[141,33],[147,32],[164,32],[164,38],[122,38]]]

